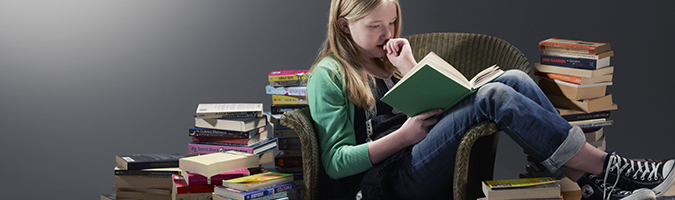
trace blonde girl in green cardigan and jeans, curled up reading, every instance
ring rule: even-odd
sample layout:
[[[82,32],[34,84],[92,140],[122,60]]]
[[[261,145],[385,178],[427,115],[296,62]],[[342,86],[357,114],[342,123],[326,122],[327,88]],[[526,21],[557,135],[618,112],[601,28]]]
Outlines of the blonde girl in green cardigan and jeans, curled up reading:
[[[485,120],[548,172],[577,181],[584,199],[653,199],[673,185],[675,160],[636,162],[596,149],[521,71],[507,71],[445,112],[399,113],[379,98],[417,64],[400,32],[397,0],[333,0],[307,85],[326,173],[362,180],[356,187],[364,198],[447,198],[458,141]]]

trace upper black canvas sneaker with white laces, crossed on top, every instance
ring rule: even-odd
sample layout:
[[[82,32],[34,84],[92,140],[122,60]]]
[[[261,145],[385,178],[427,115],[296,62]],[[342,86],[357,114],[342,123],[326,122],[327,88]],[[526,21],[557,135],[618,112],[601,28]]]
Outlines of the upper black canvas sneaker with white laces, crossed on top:
[[[675,183],[674,163],[672,159],[637,161],[611,153],[605,159],[604,180],[626,190],[648,188],[661,196]]]

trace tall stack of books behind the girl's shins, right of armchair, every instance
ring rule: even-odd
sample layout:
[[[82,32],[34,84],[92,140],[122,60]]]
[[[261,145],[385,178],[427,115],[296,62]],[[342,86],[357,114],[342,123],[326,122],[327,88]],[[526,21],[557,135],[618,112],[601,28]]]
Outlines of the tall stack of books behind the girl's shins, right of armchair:
[[[588,143],[605,150],[603,127],[613,124],[609,114],[618,108],[607,93],[614,73],[609,43],[549,38],[539,49],[539,87],[563,118],[584,130]]]

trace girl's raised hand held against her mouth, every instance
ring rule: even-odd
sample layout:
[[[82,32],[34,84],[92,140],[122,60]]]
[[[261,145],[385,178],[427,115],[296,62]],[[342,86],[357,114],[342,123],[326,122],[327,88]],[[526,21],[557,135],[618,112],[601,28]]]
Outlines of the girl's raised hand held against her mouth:
[[[403,75],[417,65],[410,43],[405,38],[393,38],[382,47],[387,52],[387,58],[391,64],[401,70]]]

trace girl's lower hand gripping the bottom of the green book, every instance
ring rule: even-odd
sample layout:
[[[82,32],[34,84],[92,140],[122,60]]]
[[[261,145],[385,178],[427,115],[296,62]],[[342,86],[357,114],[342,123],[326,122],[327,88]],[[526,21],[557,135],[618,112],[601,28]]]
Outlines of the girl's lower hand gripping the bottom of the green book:
[[[438,123],[438,118],[432,117],[443,112],[443,109],[434,109],[408,118],[398,129],[402,142],[405,146],[416,144],[427,136],[429,130]]]

